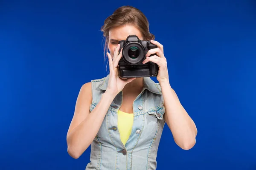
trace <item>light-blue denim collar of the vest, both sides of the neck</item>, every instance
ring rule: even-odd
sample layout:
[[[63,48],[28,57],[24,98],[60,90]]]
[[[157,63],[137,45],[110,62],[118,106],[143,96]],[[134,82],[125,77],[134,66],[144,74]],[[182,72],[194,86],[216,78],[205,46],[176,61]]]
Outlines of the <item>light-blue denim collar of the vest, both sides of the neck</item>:
[[[109,74],[100,85],[101,90],[107,90]],[[154,94],[162,94],[161,90],[157,87],[156,83],[150,77],[143,77],[143,88]]]

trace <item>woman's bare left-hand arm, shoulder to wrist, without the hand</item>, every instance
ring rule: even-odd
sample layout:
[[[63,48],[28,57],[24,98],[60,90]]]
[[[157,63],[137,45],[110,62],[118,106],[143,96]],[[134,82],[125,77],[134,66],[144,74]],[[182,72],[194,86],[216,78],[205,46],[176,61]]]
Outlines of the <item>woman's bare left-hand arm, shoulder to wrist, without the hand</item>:
[[[76,101],[75,113],[67,132],[67,152],[70,156],[78,159],[90,146],[113,99],[113,95],[104,93],[98,105],[90,113],[91,82],[81,87]]]

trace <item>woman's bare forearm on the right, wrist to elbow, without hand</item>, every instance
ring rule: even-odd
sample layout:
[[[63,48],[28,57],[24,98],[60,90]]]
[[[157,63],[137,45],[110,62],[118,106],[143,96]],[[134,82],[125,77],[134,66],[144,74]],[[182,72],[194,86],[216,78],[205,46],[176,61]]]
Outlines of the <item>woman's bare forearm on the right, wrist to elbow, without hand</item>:
[[[197,128],[186,110],[181,105],[175,91],[169,82],[161,82],[163,99],[166,108],[166,122],[172,131],[177,145],[183,149],[190,149],[195,144]]]

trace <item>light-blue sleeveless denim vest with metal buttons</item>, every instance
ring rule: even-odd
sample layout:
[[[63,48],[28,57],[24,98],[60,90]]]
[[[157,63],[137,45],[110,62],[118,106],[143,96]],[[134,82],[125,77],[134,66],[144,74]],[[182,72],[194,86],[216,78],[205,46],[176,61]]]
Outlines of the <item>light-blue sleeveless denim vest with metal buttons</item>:
[[[99,103],[108,86],[108,78],[92,80],[90,111]],[[134,122],[131,135],[123,145],[117,128],[117,111],[122,105],[122,91],[113,99],[102,125],[91,144],[86,170],[155,170],[157,150],[165,125],[160,85],[143,78],[143,90],[133,103]]]

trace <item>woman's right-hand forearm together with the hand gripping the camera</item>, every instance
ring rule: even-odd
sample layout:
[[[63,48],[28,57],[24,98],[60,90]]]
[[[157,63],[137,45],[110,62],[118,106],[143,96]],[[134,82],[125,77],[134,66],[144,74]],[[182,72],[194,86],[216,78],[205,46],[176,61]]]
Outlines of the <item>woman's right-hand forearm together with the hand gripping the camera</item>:
[[[167,60],[163,54],[163,45],[154,40],[151,40],[151,42],[157,45],[158,48],[148,50],[147,56],[150,56],[150,54],[156,55],[147,57],[143,63],[151,61],[159,66],[157,80],[162,88],[164,107],[166,108],[164,119],[172,132],[176,144],[184,150],[189,150],[195,145],[197,128],[169,83]]]

